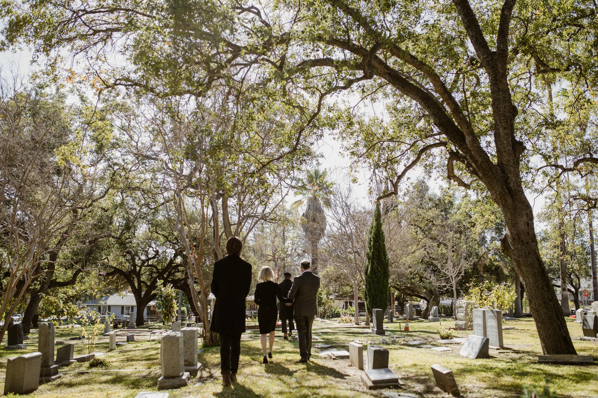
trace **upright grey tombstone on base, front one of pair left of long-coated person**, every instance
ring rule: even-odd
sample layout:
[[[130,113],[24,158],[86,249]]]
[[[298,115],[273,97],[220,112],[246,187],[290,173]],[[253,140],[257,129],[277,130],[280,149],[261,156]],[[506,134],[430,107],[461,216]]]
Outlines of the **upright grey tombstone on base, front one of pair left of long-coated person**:
[[[187,385],[189,373],[185,372],[183,334],[170,332],[160,343],[162,375],[158,378],[158,390],[179,388]]]

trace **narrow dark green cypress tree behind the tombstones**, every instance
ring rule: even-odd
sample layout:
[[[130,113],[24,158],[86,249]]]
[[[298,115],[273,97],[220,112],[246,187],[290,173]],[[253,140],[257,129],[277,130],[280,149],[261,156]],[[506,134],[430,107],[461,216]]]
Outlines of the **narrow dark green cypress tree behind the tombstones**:
[[[371,315],[372,308],[386,310],[388,307],[390,270],[380,203],[376,203],[369,235],[365,253],[365,307]]]

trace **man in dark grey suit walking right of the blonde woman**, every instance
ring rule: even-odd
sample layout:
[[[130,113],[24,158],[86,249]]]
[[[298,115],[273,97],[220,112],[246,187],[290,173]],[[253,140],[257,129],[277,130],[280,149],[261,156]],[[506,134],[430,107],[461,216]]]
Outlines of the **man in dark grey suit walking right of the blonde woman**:
[[[293,307],[301,354],[299,363],[306,363],[312,356],[312,325],[318,312],[320,277],[313,274],[310,267],[309,261],[301,261],[301,275],[295,276],[289,291],[289,299],[295,299]]]

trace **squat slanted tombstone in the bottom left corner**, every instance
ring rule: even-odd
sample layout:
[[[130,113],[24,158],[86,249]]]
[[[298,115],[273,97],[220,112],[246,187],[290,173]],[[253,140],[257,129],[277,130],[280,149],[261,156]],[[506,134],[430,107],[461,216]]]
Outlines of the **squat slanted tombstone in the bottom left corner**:
[[[41,353],[28,353],[9,358],[4,378],[4,395],[28,394],[39,387]]]

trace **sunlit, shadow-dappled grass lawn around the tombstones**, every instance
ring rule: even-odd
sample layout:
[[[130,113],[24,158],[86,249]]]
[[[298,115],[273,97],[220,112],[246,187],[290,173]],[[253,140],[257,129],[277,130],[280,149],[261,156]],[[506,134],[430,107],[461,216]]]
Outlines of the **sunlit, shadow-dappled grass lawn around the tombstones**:
[[[569,331],[573,338],[581,337],[581,326],[568,319]],[[401,322],[402,323],[402,322]],[[550,389],[562,397],[598,397],[598,362],[591,366],[539,365],[537,355],[541,354],[538,336],[532,319],[518,319],[504,322],[503,326],[514,326],[514,330],[504,331],[504,343],[508,350],[490,350],[490,359],[471,360],[459,356],[460,344],[446,345],[451,351],[438,352],[429,348],[407,345],[407,341],[429,341],[432,345],[438,339],[436,330],[453,326],[452,321],[410,322],[410,331],[399,330],[399,323],[388,323],[392,334],[374,336],[359,334],[358,329],[341,329],[332,322],[315,323],[314,336],[322,341],[313,344],[331,344],[336,348],[347,348],[350,341],[364,344],[379,344],[382,338],[398,343],[386,345],[390,350],[390,369],[404,382],[402,391],[419,397],[445,397],[435,387],[431,365],[439,363],[452,369],[464,397],[519,397],[524,385],[544,386],[550,379]],[[362,329],[363,331],[363,329]],[[56,340],[68,340],[80,332],[72,328],[56,328]],[[466,337],[471,332],[456,332],[456,337]],[[257,332],[248,331],[243,337],[239,382],[231,388],[222,388],[219,375],[218,347],[206,348],[199,354],[203,367],[187,387],[168,391],[170,397],[383,397],[383,391],[367,391],[359,381],[361,371],[349,366],[349,360],[331,360],[316,354],[313,349],[312,362],[297,364],[299,358],[296,340],[285,341],[278,338],[274,345],[274,359],[268,365],[261,363],[261,347]],[[28,350],[0,349],[0,388],[4,390],[6,359],[35,351],[36,331],[29,335]],[[102,372],[70,373],[57,381],[40,385],[32,396],[43,397],[135,397],[139,391],[157,390],[160,377],[160,343],[154,336],[137,337],[135,343],[108,350],[108,338],[100,337],[96,345],[97,353],[105,359],[108,368]],[[124,341],[124,335],[117,341]],[[75,355],[87,353],[86,344],[75,341]],[[598,344],[575,340],[578,354],[591,354],[598,359]],[[77,363],[62,372],[89,369],[88,363]],[[132,371],[104,372],[113,369],[133,369]]]

